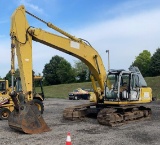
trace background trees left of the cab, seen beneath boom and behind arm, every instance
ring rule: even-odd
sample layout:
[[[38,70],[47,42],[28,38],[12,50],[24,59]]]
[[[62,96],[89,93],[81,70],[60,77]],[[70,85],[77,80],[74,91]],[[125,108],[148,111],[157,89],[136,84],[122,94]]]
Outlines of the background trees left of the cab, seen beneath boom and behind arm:
[[[15,77],[19,76],[20,73],[17,69],[15,71]],[[11,83],[10,71],[7,73],[5,78],[9,80],[9,83]],[[45,86],[87,81],[90,81],[89,69],[81,61],[75,61],[75,64],[72,67],[67,60],[56,55],[51,58],[49,63],[45,64],[43,69],[43,85]]]

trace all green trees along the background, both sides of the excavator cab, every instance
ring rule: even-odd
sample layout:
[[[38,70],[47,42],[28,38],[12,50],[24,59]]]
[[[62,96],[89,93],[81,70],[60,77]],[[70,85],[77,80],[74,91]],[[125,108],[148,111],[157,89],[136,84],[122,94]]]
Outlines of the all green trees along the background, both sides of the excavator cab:
[[[148,50],[143,50],[132,63],[137,66],[144,77],[160,76],[160,48],[151,56]],[[33,71],[34,74],[34,71]],[[41,74],[38,74],[41,75]],[[75,61],[74,66],[58,55],[51,58],[43,69],[43,84],[57,85],[90,81],[90,71],[88,67],[79,61]],[[19,70],[15,71],[15,77],[19,77]],[[10,71],[6,74],[6,79],[11,82]]]

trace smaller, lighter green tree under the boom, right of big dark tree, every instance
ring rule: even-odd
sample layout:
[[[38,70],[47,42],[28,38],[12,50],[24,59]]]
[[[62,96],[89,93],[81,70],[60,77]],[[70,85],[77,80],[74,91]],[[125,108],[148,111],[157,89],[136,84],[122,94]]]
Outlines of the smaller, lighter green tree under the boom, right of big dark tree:
[[[89,69],[85,63],[80,60],[76,61],[74,69],[78,82],[86,82],[89,80]]]

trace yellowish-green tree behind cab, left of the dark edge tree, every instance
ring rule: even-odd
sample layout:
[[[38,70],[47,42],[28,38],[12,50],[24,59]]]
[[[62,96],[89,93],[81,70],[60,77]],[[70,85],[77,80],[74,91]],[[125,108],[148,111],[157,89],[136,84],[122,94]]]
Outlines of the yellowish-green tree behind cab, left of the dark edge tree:
[[[148,50],[143,50],[139,56],[136,57],[132,63],[133,66],[137,66],[144,77],[149,76],[149,65],[151,61],[151,53]]]

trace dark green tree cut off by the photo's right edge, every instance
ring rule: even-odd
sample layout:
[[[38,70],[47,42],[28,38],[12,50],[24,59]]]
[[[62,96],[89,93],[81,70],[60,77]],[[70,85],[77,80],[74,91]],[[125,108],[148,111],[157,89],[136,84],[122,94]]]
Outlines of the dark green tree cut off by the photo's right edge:
[[[160,76],[160,48],[151,57],[149,70],[151,76]]]

